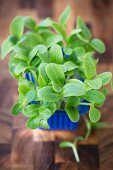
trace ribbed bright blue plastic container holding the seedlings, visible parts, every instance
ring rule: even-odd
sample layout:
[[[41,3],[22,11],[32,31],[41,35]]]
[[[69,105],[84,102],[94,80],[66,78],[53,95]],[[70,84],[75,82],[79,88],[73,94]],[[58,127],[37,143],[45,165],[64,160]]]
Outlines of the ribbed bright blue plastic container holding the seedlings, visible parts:
[[[35,83],[33,76],[30,73],[26,73],[25,77],[27,80],[32,81]],[[86,101],[85,101],[86,102]],[[31,102],[32,104],[37,104],[36,101]],[[31,104],[30,103],[30,104]],[[78,107],[80,115],[84,115],[88,112],[89,107],[81,105]],[[77,129],[79,122],[72,122],[66,111],[64,110],[57,110],[55,113],[48,119],[48,124],[50,126],[49,130],[75,130]]]

